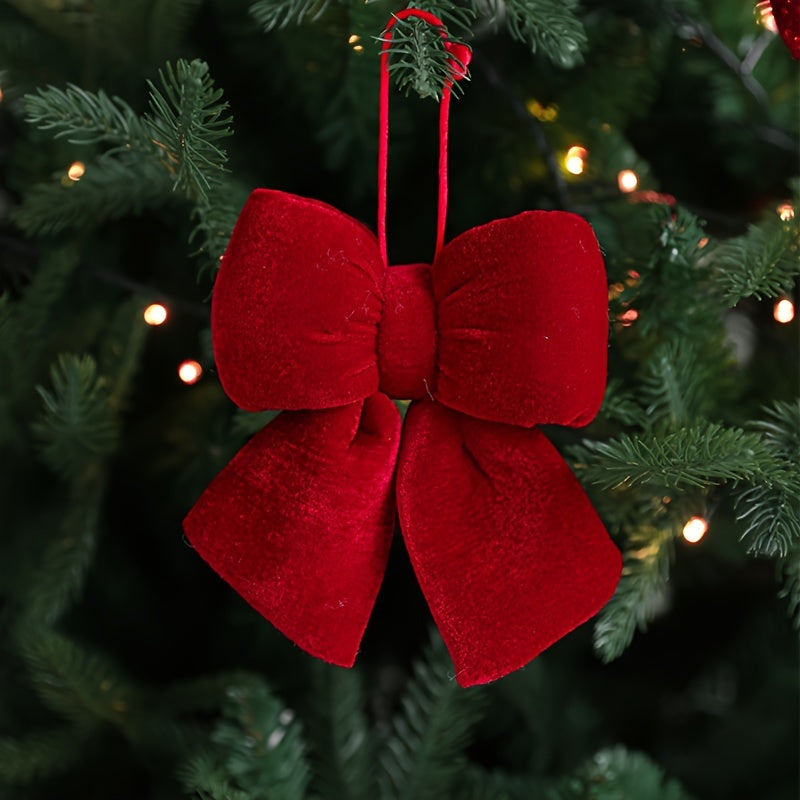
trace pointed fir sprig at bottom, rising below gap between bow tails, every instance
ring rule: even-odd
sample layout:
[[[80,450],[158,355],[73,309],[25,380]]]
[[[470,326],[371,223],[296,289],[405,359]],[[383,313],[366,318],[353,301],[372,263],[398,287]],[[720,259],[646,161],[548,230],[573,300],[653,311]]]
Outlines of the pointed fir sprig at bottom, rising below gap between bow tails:
[[[446,797],[463,764],[462,751],[483,704],[480,689],[463,690],[434,637],[402,699],[402,712],[380,754],[382,796],[394,800]]]

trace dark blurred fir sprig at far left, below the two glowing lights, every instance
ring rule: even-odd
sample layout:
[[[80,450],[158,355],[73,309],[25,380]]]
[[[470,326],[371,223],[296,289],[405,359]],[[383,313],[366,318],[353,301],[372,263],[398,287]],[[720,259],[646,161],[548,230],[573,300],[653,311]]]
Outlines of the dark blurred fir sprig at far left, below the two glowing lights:
[[[50,379],[52,392],[37,387],[44,414],[33,429],[47,464],[69,476],[112,452],[117,429],[105,382],[91,356],[60,356],[50,370]]]

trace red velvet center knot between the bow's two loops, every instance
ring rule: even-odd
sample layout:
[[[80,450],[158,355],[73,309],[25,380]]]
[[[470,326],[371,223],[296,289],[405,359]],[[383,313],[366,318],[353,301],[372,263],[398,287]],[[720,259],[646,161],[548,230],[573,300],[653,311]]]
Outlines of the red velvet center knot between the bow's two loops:
[[[436,304],[428,264],[389,267],[378,326],[380,390],[416,400],[435,389]]]

